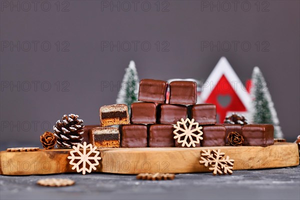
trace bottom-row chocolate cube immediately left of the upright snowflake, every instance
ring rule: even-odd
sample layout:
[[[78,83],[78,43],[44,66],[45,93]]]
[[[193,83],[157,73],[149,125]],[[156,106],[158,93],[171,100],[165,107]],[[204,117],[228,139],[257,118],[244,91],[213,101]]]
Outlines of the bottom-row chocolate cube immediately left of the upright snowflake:
[[[149,125],[149,147],[173,147],[173,130],[172,124]]]

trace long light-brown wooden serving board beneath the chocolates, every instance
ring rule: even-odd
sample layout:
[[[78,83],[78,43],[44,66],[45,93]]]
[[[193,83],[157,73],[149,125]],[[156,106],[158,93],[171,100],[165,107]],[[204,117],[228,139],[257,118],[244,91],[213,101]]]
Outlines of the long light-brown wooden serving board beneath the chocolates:
[[[98,149],[101,160],[96,172],[137,174],[141,172],[206,172],[199,164],[202,149],[221,149],[234,159],[234,170],[295,166],[299,164],[295,143],[278,142],[267,147],[218,146],[195,148]],[[31,175],[75,172],[68,164],[71,149],[0,152],[0,174]]]

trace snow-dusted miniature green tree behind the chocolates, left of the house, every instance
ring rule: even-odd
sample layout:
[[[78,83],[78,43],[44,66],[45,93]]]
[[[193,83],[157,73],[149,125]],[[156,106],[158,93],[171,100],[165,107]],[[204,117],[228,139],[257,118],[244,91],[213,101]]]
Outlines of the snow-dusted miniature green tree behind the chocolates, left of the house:
[[[130,112],[131,103],[137,101],[139,79],[133,60],[129,62],[125,69],[125,74],[122,80],[120,91],[118,92],[116,103],[126,104],[128,112]]]

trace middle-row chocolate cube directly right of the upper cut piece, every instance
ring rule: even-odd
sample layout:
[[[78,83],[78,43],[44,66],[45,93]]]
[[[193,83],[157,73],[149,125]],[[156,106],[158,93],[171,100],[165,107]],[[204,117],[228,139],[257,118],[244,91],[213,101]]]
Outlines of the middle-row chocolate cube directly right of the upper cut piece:
[[[156,122],[156,105],[152,102],[134,102],[131,104],[131,123],[151,124]]]

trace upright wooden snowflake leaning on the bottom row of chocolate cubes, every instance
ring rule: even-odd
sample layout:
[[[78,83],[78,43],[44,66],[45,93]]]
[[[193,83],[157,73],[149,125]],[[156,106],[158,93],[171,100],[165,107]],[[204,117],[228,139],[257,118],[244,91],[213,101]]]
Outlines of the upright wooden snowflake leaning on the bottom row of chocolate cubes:
[[[178,143],[182,143],[182,147],[190,147],[191,145],[195,147],[196,144],[200,143],[200,139],[203,139],[201,137],[203,134],[201,131],[202,126],[199,126],[198,122],[194,122],[194,119],[189,120],[189,118],[186,118],[184,120],[181,118],[181,121],[177,121],[177,124],[173,127],[175,128],[173,131],[175,136],[173,138],[177,139]]]

